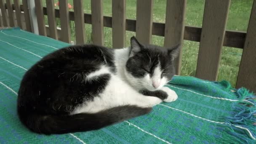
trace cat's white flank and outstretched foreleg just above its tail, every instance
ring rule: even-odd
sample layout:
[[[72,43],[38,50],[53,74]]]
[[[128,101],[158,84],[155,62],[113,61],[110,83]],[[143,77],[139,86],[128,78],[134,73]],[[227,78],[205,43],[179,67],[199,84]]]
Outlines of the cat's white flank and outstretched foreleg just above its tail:
[[[162,102],[155,96],[144,96],[119,77],[111,75],[104,91],[95,96],[92,101],[87,101],[77,107],[73,114],[81,112],[96,113],[104,109],[125,105],[142,108],[153,107]]]

